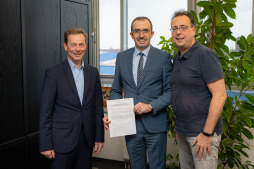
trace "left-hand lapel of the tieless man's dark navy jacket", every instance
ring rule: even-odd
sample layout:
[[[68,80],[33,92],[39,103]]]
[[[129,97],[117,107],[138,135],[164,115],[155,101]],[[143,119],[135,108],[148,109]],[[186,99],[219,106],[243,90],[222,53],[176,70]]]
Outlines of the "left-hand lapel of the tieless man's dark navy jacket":
[[[65,72],[66,78],[69,82],[69,85],[71,87],[71,90],[73,91],[75,97],[77,98],[78,103],[80,104],[80,99],[79,99],[77,87],[75,85],[74,77],[73,77],[73,74],[72,74],[72,71],[71,71],[71,68],[70,68],[70,65],[69,65],[67,59],[65,59],[65,61],[64,61],[64,72]]]

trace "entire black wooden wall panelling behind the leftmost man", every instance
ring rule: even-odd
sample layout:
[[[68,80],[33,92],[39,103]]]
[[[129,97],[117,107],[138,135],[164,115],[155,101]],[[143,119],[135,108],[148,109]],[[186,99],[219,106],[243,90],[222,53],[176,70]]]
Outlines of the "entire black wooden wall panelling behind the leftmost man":
[[[89,5],[90,0],[0,1],[1,169],[50,168],[39,152],[44,73],[67,56],[62,54],[64,29],[89,32]]]

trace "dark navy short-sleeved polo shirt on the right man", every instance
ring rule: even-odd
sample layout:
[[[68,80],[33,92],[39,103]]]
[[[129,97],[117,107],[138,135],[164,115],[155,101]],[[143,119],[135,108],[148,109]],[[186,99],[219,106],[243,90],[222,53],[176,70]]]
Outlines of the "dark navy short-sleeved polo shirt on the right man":
[[[170,83],[178,134],[196,137],[202,132],[212,99],[207,84],[223,78],[218,56],[197,41],[182,57],[179,53],[174,57]],[[220,117],[215,132],[222,131]]]

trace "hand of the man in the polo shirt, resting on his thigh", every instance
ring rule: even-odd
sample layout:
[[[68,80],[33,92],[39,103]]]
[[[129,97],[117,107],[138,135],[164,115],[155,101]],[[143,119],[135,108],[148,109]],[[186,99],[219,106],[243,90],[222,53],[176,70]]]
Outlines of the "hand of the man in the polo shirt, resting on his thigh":
[[[208,155],[211,156],[211,143],[212,143],[212,136],[208,137],[205,136],[203,133],[200,133],[196,139],[193,141],[192,146],[197,144],[195,150],[195,156],[198,156],[198,159],[201,160],[202,154],[203,159],[206,159],[206,151],[208,151]]]

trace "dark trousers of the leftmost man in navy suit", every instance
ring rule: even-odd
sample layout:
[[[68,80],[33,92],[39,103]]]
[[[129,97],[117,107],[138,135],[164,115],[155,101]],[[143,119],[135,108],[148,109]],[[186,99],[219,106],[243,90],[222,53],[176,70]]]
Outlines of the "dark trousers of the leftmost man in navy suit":
[[[52,169],[91,169],[93,149],[87,144],[83,129],[77,146],[69,153],[55,153]]]

